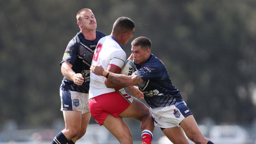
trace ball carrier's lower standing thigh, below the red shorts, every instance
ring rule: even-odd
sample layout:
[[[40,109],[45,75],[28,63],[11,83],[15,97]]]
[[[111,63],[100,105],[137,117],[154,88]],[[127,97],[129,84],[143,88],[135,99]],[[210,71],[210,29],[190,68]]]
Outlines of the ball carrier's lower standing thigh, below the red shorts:
[[[131,131],[121,117],[114,117],[108,114],[106,120],[103,122],[103,126],[105,126],[120,143],[132,143]]]

